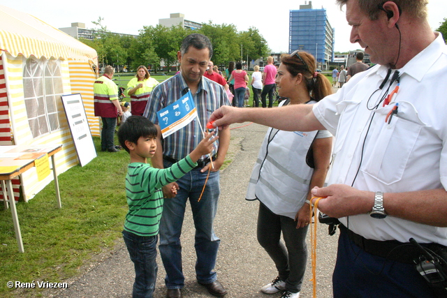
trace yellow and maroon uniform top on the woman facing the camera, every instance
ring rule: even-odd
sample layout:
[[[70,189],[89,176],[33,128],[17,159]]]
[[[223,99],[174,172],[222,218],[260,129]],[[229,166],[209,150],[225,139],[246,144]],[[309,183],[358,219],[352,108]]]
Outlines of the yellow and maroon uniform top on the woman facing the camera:
[[[131,95],[131,113],[133,115],[142,116],[142,113],[145,112],[147,100],[151,95],[152,89],[159,84],[159,81],[152,77],[138,81],[138,77],[133,77],[133,79],[127,83],[127,92],[129,93],[129,90],[135,88],[138,84],[142,84],[142,87],[138,88],[135,93]]]

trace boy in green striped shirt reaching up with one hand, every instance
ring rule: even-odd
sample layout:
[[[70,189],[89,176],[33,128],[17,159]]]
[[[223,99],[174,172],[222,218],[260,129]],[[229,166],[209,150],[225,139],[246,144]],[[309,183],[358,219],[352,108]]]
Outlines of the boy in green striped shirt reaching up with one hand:
[[[161,188],[181,178],[197,166],[198,159],[212,151],[218,137],[208,134],[191,154],[166,169],[147,163],[156,151],[157,128],[141,116],[129,117],[119,127],[119,144],[129,152],[131,163],[126,175],[126,197],[129,212],[124,222],[123,237],[133,264],[135,282],[133,297],[152,297],[156,273],[156,243],[163,212]],[[177,190],[173,189],[173,193]]]

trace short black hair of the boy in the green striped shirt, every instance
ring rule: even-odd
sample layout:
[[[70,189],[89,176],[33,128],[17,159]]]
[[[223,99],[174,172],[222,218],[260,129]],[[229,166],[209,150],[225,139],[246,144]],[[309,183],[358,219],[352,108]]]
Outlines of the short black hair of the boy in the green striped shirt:
[[[156,135],[156,126],[149,119],[142,116],[131,116],[119,126],[118,140],[121,147],[129,152],[129,148],[125,144],[126,140],[136,144],[140,137],[156,137]]]

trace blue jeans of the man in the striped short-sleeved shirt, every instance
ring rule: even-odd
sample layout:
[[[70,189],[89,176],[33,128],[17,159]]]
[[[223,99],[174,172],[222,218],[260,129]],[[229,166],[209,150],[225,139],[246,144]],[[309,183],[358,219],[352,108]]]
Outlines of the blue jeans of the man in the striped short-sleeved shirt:
[[[163,161],[164,167],[171,163]],[[216,265],[217,251],[220,239],[214,234],[213,221],[217,211],[217,201],[220,194],[219,172],[210,172],[203,196],[198,202],[207,172],[200,172],[200,168],[188,172],[177,180],[179,190],[175,198],[166,199],[163,203],[163,215],[160,221],[160,255],[166,269],[166,288],[181,289],[184,287],[182,272],[182,224],[186,202],[189,199],[196,227],[196,278],[199,283],[212,283],[217,280],[216,272],[212,271]]]

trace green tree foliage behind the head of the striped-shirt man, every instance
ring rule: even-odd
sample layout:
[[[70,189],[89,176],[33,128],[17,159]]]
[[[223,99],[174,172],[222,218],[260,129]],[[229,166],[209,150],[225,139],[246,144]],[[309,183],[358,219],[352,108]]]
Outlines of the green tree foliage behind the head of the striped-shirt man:
[[[190,33],[202,33],[210,38],[213,46],[212,61],[215,65],[226,65],[228,61],[256,60],[267,57],[270,49],[267,42],[255,27],[247,31],[237,31],[233,24],[203,24],[201,29],[191,31],[181,25],[176,27],[145,26],[140,34],[119,36],[108,31],[98,17],[92,22],[98,27],[94,40],[81,40],[98,53],[98,61],[105,65],[127,65],[135,70],[140,65],[152,65],[155,69],[163,60],[165,66],[177,65],[177,51],[182,40]],[[241,52],[242,50],[242,52]]]

